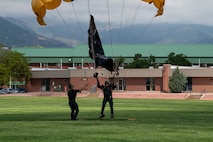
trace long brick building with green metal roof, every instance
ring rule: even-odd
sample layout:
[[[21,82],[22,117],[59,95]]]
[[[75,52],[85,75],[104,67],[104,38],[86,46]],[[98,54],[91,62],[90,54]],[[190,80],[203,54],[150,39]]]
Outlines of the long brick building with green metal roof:
[[[115,77],[117,90],[127,91],[165,91],[168,92],[169,77],[175,68],[164,64],[169,53],[184,54],[193,64],[180,69],[188,79],[186,91],[213,92],[213,47],[211,45],[119,45],[103,46],[106,56],[125,57],[125,64],[133,61],[135,54],[143,58],[155,56],[157,69],[121,69]],[[121,50],[122,49],[122,50]],[[134,50],[133,50],[134,49]],[[87,45],[75,48],[16,48],[30,60],[32,78],[26,85],[29,91],[65,91],[68,83],[76,88],[88,83],[88,90],[96,85],[93,78],[99,72],[101,82],[112,79],[105,69],[94,69],[93,61],[88,57]],[[112,51],[111,51],[112,50]]]

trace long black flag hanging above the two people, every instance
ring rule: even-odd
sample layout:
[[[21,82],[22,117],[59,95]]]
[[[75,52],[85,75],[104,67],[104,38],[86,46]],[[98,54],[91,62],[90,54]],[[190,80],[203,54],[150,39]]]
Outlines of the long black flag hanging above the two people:
[[[99,37],[92,15],[90,15],[88,34],[89,56],[95,61],[95,67],[97,68],[98,66],[102,66],[111,72],[114,71],[113,60],[104,55],[101,39]]]

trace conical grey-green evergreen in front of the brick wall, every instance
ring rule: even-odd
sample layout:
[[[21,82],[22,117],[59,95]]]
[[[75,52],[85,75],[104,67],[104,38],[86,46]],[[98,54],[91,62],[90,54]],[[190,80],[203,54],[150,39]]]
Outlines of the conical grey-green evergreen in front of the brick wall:
[[[169,78],[169,88],[172,93],[181,93],[187,83],[187,78],[180,73],[179,69],[175,69]]]

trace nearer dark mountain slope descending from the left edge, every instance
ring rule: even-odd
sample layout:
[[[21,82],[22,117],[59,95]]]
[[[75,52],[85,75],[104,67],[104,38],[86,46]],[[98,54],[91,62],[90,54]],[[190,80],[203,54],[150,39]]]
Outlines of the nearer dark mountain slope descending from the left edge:
[[[14,19],[13,19],[14,20]],[[14,20],[14,23],[0,17],[0,42],[6,46],[66,46],[56,40],[48,39],[42,35],[35,33],[30,27],[22,23],[17,26],[21,21]]]

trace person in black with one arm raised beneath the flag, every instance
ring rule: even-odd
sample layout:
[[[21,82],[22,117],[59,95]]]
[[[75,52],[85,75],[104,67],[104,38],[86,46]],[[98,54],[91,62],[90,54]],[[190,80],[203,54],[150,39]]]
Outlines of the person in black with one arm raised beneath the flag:
[[[100,119],[103,118],[104,115],[104,108],[106,106],[106,103],[109,102],[110,111],[111,111],[111,118],[114,117],[114,110],[113,110],[113,98],[112,98],[112,90],[115,88],[113,84],[110,84],[109,81],[105,81],[104,85],[100,85],[100,82],[98,80],[98,73],[94,74],[94,77],[97,80],[97,87],[100,88],[103,91],[104,98],[102,101],[102,107],[101,107],[101,114]]]

